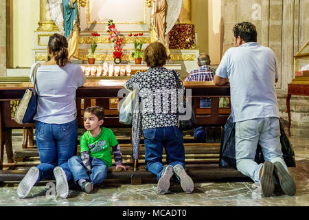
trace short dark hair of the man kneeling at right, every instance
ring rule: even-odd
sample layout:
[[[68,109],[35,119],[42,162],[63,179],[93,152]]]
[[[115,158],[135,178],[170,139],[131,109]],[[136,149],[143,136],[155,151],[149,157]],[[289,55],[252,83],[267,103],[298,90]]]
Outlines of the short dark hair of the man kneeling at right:
[[[236,23],[233,27],[234,36],[240,36],[242,40],[247,42],[257,42],[258,32],[256,32],[255,25],[250,22]]]

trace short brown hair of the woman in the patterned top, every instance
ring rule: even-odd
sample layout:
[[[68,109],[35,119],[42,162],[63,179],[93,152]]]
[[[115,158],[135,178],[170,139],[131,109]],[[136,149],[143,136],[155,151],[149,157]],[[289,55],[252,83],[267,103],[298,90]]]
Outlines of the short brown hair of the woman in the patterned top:
[[[164,45],[160,42],[150,43],[144,50],[143,60],[150,68],[165,65],[168,54],[166,54]]]

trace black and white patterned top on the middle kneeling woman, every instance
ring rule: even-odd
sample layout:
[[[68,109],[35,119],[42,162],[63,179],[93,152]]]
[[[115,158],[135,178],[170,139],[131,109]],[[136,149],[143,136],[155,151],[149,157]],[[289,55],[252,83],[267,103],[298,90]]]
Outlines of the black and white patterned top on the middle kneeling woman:
[[[183,85],[179,72],[179,85]],[[142,128],[177,126],[176,78],[165,67],[149,68],[137,72],[126,82],[126,89],[138,89],[142,103]]]

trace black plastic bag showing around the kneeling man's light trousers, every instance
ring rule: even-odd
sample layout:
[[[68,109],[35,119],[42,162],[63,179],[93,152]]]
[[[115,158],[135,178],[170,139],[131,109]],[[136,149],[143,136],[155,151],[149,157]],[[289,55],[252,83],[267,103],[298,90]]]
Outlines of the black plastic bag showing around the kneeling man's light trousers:
[[[280,143],[282,146],[282,153],[284,162],[286,162],[286,166],[295,167],[295,155],[293,151],[293,146],[288,140],[286,136],[286,132],[284,131],[284,126],[279,120],[280,126]],[[235,152],[235,123],[232,121],[231,116],[227,119],[225,126],[223,126],[222,137],[221,137],[221,146],[220,146],[220,160],[219,166],[236,168],[236,152]],[[257,164],[264,162],[264,157],[262,153],[262,148],[260,144],[258,144],[256,154],[255,154],[255,162]]]

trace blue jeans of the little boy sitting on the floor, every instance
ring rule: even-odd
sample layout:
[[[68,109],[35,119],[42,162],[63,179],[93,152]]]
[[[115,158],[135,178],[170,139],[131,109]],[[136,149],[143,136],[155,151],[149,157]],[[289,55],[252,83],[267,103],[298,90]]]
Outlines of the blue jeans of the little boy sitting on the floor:
[[[86,181],[91,181],[94,185],[96,185],[106,179],[108,167],[105,162],[96,157],[90,157],[90,162],[92,168],[89,177],[80,156],[73,156],[69,159],[68,164],[73,175],[74,183],[77,183],[80,179],[86,179]]]

